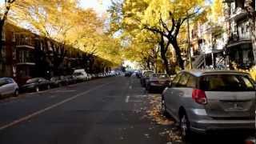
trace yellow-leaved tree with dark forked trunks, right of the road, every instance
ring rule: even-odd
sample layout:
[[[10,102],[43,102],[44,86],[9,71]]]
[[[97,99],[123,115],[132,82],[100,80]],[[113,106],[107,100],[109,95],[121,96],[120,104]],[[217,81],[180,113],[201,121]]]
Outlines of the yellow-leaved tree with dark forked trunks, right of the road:
[[[141,30],[152,32],[160,37],[158,42],[166,72],[170,66],[167,58],[170,45],[174,47],[178,65],[183,69],[178,34],[187,19],[194,21],[205,15],[205,0],[124,0],[121,6],[122,10],[116,5],[110,12],[114,16],[111,18],[113,26],[119,22],[118,28],[125,34],[124,38],[131,41]]]

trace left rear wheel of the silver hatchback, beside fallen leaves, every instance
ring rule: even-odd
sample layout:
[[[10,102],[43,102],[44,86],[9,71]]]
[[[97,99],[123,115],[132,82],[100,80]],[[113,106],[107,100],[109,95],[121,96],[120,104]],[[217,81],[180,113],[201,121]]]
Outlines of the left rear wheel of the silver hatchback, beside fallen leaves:
[[[181,131],[181,135],[182,135],[182,139],[184,141],[189,140],[190,139],[190,121],[187,118],[186,114],[182,114],[180,116],[180,120],[179,120],[179,127],[180,127],[180,131]]]

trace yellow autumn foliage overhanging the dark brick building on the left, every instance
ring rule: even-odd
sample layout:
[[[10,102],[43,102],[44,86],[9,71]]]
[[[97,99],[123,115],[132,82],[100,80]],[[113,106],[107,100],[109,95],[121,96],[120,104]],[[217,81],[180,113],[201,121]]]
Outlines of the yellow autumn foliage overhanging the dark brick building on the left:
[[[9,19],[47,38],[122,63],[120,43],[106,33],[106,18],[78,0],[16,0]]]

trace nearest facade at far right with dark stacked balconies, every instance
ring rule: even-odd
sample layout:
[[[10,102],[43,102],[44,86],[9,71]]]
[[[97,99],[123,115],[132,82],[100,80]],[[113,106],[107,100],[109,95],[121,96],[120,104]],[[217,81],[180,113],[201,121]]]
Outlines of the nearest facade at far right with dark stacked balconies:
[[[226,2],[226,22],[229,29],[229,41],[226,50],[230,58],[230,68],[250,69],[255,65],[255,55],[251,35],[255,34],[255,22],[250,22],[250,15],[246,10],[247,0],[233,0]],[[255,1],[250,2],[255,10]]]

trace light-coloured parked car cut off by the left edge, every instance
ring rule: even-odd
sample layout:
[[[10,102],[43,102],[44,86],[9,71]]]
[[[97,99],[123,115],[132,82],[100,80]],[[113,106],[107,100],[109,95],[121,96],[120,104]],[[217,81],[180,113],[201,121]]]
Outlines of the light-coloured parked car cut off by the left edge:
[[[18,96],[18,84],[13,78],[0,78],[0,98]]]

